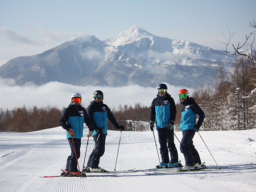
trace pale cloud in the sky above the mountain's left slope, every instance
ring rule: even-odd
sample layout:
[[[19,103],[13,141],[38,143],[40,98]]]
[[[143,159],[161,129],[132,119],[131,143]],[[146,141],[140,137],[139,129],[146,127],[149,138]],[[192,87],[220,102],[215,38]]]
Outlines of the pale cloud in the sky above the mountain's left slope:
[[[15,57],[40,54],[72,38],[82,36],[80,31],[71,33],[44,28],[24,28],[22,33],[0,27],[0,66]]]

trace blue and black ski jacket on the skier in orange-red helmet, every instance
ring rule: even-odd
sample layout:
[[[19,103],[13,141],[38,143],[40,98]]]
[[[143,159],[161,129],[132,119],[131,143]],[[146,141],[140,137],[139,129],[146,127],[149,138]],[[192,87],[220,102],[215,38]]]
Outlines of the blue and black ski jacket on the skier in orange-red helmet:
[[[181,131],[194,129],[194,125],[196,128],[200,128],[203,124],[203,119],[205,118],[205,114],[203,110],[199,107],[199,105],[195,102],[195,99],[189,97],[187,100],[180,102],[181,106],[181,124],[179,128]],[[196,114],[198,114],[199,119],[196,123]]]

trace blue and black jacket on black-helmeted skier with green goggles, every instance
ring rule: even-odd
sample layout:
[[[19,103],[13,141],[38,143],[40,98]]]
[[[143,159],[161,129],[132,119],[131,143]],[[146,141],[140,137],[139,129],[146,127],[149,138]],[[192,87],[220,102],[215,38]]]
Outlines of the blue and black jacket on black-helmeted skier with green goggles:
[[[115,128],[119,129],[117,120],[114,118],[108,106],[106,104],[103,104],[103,102],[91,101],[86,111],[88,116],[92,119],[93,126],[103,129],[103,134],[108,134],[108,119]],[[98,134],[98,132],[94,130],[92,136],[96,134]]]

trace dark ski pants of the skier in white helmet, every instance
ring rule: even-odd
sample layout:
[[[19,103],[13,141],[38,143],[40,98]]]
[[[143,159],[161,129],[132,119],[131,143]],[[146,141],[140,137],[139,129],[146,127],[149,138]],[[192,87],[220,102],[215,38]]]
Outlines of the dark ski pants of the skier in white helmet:
[[[73,141],[74,141],[75,149],[74,149]],[[68,142],[71,149],[71,155],[68,156],[67,163],[66,163],[66,170],[70,172],[78,171],[77,159],[80,158],[81,138],[80,139],[73,138],[73,141],[72,141],[72,138],[68,138]],[[77,154],[77,158],[75,157],[75,153]]]

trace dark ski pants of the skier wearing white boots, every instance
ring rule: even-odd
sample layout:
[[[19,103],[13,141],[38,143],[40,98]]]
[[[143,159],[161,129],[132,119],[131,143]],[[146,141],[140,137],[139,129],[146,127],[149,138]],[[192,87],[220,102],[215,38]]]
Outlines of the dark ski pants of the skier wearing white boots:
[[[105,152],[106,135],[96,134],[92,137],[95,142],[95,148],[88,159],[87,166],[90,168],[98,168],[98,165],[100,164],[100,157]]]

